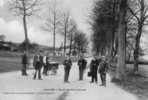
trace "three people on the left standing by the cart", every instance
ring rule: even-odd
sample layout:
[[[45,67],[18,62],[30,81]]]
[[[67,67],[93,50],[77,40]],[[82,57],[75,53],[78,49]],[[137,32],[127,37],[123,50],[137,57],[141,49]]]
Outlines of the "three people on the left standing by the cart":
[[[28,66],[28,57],[26,52],[22,55],[22,75],[27,75],[27,66]],[[41,53],[37,53],[33,57],[33,67],[35,69],[34,77],[33,79],[36,79],[38,76],[38,79],[41,80],[41,69],[43,67],[43,75],[47,75],[48,70],[51,70],[51,64],[49,63],[49,57],[48,56],[42,56]]]

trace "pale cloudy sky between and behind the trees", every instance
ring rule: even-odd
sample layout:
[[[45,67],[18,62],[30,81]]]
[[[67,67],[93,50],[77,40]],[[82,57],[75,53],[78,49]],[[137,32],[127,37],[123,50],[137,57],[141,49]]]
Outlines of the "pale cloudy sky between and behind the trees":
[[[88,14],[91,11],[93,0],[60,0],[61,6],[70,10],[72,18],[76,21],[78,28],[90,35],[88,25]],[[44,9],[44,8],[42,8]],[[8,10],[7,0],[0,0],[0,34],[6,36],[7,41],[22,42],[24,40],[24,30],[22,20],[14,16]],[[42,13],[42,15],[44,15]],[[43,31],[40,27],[44,20],[40,17],[31,17],[28,21],[28,35],[31,42],[52,46],[52,33]],[[63,41],[63,36],[57,34],[56,46],[60,46]]]

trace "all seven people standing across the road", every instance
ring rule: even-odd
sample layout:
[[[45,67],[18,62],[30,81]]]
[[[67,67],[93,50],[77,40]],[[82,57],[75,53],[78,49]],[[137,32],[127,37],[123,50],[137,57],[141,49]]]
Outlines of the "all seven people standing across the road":
[[[24,53],[22,56],[22,75],[27,75],[26,68],[27,68],[27,55]],[[69,74],[72,67],[72,60],[69,56],[66,57],[66,59],[63,62],[64,65],[64,82],[69,83]],[[79,67],[79,80],[83,80],[83,75],[87,66],[87,60],[80,56],[78,59],[77,65]],[[36,54],[33,58],[33,66],[35,69],[35,73],[33,76],[33,79],[36,79],[38,76],[38,79],[41,80],[41,69],[43,67],[43,74],[47,75],[49,70],[49,57],[43,57],[40,53]],[[102,56],[98,58],[97,56],[94,56],[91,60],[90,67],[89,67],[88,76],[91,77],[91,83],[98,82],[98,73],[100,74],[100,79],[102,81],[102,86],[106,86],[106,73],[108,71],[108,63],[105,56]]]

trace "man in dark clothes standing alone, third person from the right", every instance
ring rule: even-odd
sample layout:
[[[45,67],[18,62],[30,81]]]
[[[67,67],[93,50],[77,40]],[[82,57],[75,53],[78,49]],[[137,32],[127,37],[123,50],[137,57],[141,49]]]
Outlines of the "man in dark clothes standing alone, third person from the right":
[[[83,74],[84,70],[86,69],[87,61],[83,58],[83,56],[80,57],[78,60],[78,66],[79,66],[79,80],[83,80]]]

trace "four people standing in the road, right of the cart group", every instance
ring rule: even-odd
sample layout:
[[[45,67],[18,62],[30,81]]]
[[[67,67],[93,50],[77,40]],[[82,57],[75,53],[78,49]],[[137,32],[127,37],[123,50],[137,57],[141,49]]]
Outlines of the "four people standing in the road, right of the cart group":
[[[68,77],[70,73],[70,69],[72,66],[72,61],[70,57],[67,57],[67,59],[63,63],[64,69],[65,69],[65,75],[64,75],[64,82],[69,83]],[[87,61],[83,58],[83,56],[80,57],[77,63],[79,67],[79,80],[83,80],[83,74],[85,72]],[[98,58],[97,56],[94,56],[94,58],[91,60],[90,63],[90,71],[88,72],[88,76],[91,77],[91,83],[96,82],[98,83],[98,73],[100,73],[100,78],[102,81],[101,86],[106,86],[106,73],[108,71],[108,63],[105,56],[102,56],[101,58]]]

